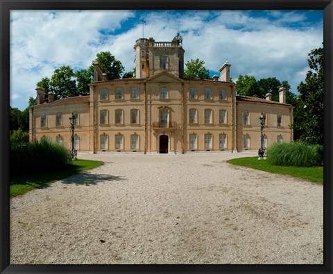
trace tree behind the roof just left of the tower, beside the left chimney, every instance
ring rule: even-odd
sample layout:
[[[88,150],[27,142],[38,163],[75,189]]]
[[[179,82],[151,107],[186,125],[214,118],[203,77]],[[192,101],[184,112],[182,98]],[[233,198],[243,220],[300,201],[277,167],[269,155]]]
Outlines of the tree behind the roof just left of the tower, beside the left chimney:
[[[96,61],[102,68],[103,73],[106,73],[110,80],[120,79],[125,67],[117,60],[110,51],[101,51],[96,55]],[[94,75],[94,61],[89,67],[89,73]]]

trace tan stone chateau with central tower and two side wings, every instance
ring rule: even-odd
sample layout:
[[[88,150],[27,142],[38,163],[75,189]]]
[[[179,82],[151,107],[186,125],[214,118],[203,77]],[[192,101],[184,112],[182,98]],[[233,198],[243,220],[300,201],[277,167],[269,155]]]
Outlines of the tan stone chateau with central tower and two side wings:
[[[136,41],[136,78],[109,80],[94,63],[89,96],[53,100],[37,88],[30,108],[30,140],[49,138],[71,147],[69,117],[76,115],[74,147],[80,152],[242,152],[260,147],[261,113],[266,115],[264,147],[293,140],[293,106],[239,96],[230,63],[212,79],[183,79],[182,38]]]

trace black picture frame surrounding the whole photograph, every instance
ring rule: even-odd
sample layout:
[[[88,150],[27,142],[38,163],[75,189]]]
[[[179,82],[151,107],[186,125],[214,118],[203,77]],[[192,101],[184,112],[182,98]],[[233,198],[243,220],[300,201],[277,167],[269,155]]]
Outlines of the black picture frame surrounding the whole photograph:
[[[10,265],[9,105],[10,10],[323,10],[324,31],[324,264],[323,265]],[[0,0],[0,272],[1,273],[332,273],[332,0]]]

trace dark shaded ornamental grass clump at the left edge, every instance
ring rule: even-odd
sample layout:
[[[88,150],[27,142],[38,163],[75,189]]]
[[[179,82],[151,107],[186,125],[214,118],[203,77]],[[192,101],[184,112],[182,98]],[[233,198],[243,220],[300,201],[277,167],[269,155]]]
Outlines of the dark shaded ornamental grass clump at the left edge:
[[[65,168],[69,162],[70,156],[66,148],[47,139],[10,144],[12,174],[53,172]]]

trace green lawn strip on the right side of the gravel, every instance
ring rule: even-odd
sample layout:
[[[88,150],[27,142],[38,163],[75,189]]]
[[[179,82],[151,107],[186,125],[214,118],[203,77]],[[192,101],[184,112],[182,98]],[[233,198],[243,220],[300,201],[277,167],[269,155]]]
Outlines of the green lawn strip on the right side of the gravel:
[[[227,162],[238,166],[247,166],[248,168],[255,168],[256,170],[263,170],[271,173],[291,175],[293,177],[299,177],[302,179],[307,179],[312,182],[318,182],[323,184],[324,175],[323,175],[322,166],[316,166],[311,168],[299,168],[295,166],[273,166],[267,160],[258,160],[257,156],[232,159],[228,160]]]

